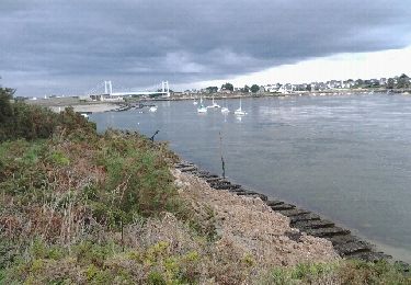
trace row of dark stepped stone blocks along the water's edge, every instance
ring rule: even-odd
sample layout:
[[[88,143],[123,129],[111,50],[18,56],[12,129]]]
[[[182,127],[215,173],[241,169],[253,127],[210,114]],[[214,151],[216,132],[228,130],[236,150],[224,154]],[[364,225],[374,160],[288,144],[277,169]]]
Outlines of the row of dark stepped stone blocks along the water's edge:
[[[238,196],[260,197],[266,207],[270,207],[274,212],[276,215],[275,217],[278,220],[286,224],[289,220],[288,227],[290,228],[283,233],[287,235],[293,240],[312,241],[312,237],[323,238],[332,243],[334,250],[342,258],[353,258],[373,262],[391,258],[383,252],[378,252],[369,242],[353,236],[349,229],[339,227],[331,220],[323,219],[310,210],[298,208],[295,205],[287,204],[282,201],[269,200],[266,195],[247,190],[238,184],[232,184],[218,175],[199,170],[195,164],[190,162],[179,162],[175,164],[175,168],[182,173],[190,173],[203,179],[206,183],[208,183],[210,189],[226,190],[229,193],[233,193]],[[221,196],[220,203],[226,203],[227,198],[228,196]],[[281,219],[277,214],[281,214],[285,219]],[[260,220],[259,227],[271,228],[273,225]],[[298,229],[298,231],[293,230],[293,228]],[[324,246],[323,243],[321,244]]]

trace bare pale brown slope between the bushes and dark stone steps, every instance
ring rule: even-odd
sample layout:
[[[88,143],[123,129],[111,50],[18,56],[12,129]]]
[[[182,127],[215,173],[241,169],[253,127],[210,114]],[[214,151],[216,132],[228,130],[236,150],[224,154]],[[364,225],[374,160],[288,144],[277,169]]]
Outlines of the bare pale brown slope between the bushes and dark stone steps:
[[[264,196],[246,192],[216,191],[212,187],[228,187],[217,178],[190,170],[193,166],[179,164],[173,172],[180,195],[192,203],[195,215],[206,217],[213,224],[218,244],[230,244],[239,255],[252,254],[261,267],[296,265],[301,262],[330,262],[339,259],[331,242],[306,235],[289,226],[289,218],[275,213],[262,200]],[[236,189],[237,190],[237,189]],[[239,195],[233,195],[232,192]],[[244,194],[244,195],[241,195]],[[204,213],[213,215],[204,215]],[[217,246],[218,247],[218,246]]]

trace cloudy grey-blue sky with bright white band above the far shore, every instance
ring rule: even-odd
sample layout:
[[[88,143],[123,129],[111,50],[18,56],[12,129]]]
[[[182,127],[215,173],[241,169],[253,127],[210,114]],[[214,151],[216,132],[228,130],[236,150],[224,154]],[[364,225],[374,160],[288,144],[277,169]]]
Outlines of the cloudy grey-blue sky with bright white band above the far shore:
[[[84,94],[411,75],[409,0],[1,0],[0,84]]]

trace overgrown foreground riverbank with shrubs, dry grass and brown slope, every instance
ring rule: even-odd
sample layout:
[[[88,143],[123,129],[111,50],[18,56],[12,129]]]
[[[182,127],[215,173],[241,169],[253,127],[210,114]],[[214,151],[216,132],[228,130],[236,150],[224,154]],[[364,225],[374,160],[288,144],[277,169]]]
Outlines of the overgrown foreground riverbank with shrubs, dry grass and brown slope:
[[[129,132],[1,144],[0,283],[406,284],[173,161]]]

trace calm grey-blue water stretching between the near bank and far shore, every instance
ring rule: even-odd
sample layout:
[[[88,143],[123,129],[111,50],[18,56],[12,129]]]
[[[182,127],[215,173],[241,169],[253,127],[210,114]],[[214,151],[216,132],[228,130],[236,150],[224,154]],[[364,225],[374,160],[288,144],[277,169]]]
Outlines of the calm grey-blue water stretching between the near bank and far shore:
[[[322,214],[411,262],[411,96],[246,99],[242,106],[241,119],[219,109],[197,114],[192,101],[91,119],[99,130],[159,129],[156,139],[217,174],[221,132],[231,181]]]

